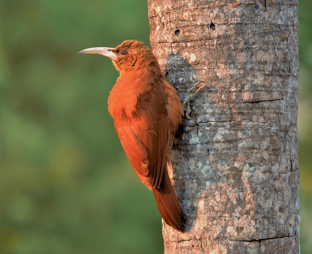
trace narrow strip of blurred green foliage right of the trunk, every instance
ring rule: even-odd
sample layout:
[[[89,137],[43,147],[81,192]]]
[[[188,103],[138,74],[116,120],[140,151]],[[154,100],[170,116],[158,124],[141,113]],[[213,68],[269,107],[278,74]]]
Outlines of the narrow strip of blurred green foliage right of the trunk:
[[[299,1],[298,146],[301,254],[312,249],[312,2]]]

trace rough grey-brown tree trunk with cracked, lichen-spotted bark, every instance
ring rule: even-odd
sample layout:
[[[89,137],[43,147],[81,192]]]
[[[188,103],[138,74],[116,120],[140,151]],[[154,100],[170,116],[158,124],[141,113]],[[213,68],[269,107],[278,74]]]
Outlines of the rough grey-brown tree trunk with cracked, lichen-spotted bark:
[[[300,253],[297,1],[149,0],[151,45],[192,102],[171,176],[187,233],[165,253]]]

